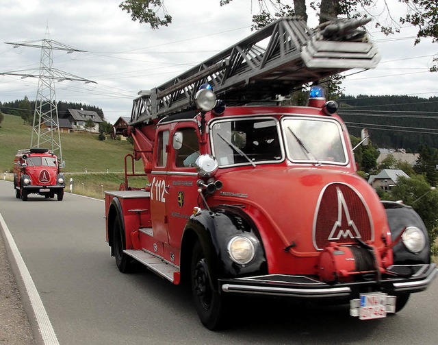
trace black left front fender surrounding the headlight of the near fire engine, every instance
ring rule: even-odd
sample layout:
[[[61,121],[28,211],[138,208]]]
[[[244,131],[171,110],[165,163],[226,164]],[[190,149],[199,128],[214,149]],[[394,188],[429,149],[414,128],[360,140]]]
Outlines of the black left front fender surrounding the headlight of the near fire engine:
[[[246,265],[231,260],[227,246],[235,236],[250,239],[255,248],[253,259]],[[211,211],[203,210],[192,215],[185,225],[181,243],[181,257],[187,258],[192,248],[189,243],[198,239],[203,248],[211,278],[230,278],[246,275],[267,274],[266,255],[259,232],[250,217],[233,206],[218,206]],[[190,248],[190,249],[188,249]],[[185,261],[186,263],[188,261]],[[183,263],[181,263],[183,265]]]

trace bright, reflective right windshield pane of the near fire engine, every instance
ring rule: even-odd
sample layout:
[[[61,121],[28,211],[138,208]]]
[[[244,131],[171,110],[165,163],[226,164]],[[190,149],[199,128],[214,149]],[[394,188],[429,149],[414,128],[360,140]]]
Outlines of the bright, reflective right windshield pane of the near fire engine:
[[[342,128],[332,120],[283,119],[287,157],[292,161],[346,163]]]

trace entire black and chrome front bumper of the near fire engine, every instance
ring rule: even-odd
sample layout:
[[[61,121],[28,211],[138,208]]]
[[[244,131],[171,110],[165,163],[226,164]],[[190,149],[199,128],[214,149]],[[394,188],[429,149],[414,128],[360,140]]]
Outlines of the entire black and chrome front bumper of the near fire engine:
[[[423,291],[437,275],[435,263],[429,265],[394,265],[380,280],[363,278],[361,281],[329,285],[315,277],[268,274],[244,278],[220,279],[225,293],[289,296],[296,298],[358,298],[361,292],[387,294]]]

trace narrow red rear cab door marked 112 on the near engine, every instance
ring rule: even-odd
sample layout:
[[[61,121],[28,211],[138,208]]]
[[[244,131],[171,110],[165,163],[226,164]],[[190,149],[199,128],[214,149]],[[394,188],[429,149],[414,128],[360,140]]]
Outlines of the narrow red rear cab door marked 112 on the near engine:
[[[155,140],[154,167],[151,171],[151,221],[153,237],[156,241],[168,243],[168,215],[166,202],[168,202],[168,181],[167,170],[170,152],[170,127],[161,126],[157,130]],[[154,246],[155,249],[155,246]],[[155,252],[162,254],[162,246],[155,249]]]

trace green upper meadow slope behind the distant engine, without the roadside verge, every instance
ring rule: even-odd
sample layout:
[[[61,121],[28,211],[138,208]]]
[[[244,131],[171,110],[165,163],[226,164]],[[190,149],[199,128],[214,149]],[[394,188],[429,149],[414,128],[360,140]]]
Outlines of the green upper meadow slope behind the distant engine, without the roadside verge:
[[[0,171],[4,172],[12,169],[18,150],[30,147],[32,127],[7,114],[0,126]],[[132,152],[127,141],[99,141],[90,133],[61,133],[61,145],[64,172],[123,172],[123,157]]]

